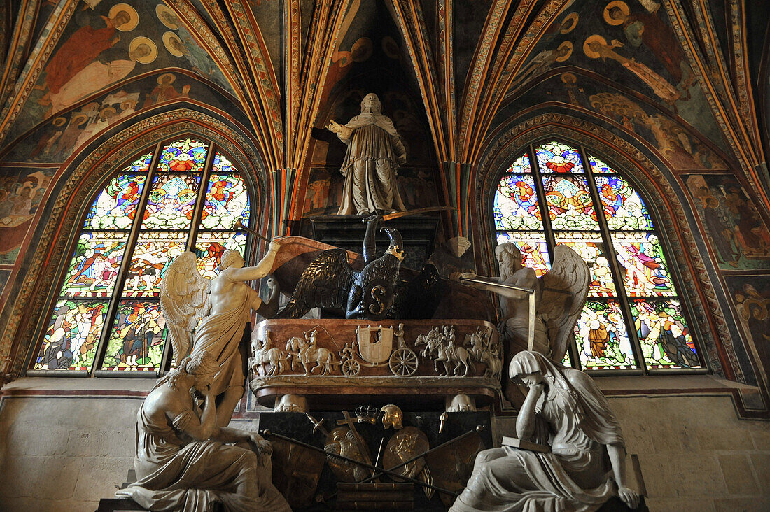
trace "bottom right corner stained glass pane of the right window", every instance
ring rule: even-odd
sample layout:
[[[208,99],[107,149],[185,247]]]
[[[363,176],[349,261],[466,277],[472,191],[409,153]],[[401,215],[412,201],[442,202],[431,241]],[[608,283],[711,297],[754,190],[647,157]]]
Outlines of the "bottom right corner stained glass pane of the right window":
[[[634,300],[631,312],[648,368],[701,367],[678,300]]]

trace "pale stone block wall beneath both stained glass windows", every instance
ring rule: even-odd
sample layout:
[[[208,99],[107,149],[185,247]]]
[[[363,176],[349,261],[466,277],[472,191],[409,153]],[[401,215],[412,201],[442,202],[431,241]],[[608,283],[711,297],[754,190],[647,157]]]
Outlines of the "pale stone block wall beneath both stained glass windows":
[[[5,387],[2,510],[95,510],[132,468],[136,411],[151,387],[125,379]],[[731,397],[610,397],[610,404],[638,455],[650,510],[770,510],[770,423],[738,420]]]

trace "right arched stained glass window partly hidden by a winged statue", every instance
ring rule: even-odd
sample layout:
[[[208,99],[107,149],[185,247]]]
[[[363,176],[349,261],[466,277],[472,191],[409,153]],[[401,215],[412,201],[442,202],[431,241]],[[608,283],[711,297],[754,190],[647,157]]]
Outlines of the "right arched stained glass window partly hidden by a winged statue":
[[[590,162],[586,166],[585,162]],[[588,300],[564,363],[584,370],[702,368],[664,244],[639,193],[579,146],[530,146],[494,196],[497,243],[543,275],[555,244],[588,263]]]

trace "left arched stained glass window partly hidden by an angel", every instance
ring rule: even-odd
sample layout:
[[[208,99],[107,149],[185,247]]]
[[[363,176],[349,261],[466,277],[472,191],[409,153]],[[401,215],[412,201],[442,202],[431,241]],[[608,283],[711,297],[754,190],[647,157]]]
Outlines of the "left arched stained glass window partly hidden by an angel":
[[[133,159],[84,212],[31,374],[164,370],[160,281],[186,250],[208,278],[225,249],[243,253],[236,219],[249,223],[249,189],[213,143],[186,137]]]

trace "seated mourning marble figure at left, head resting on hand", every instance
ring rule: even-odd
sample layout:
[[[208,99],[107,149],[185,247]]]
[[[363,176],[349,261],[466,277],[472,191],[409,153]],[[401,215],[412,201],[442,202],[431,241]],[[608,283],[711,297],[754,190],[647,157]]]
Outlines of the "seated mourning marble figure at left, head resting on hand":
[[[219,364],[196,352],[158,381],[136,421],[136,483],[119,490],[149,510],[290,511],[271,482],[272,448],[256,433],[216,425]],[[191,395],[203,393],[203,411]],[[228,444],[237,443],[237,444]]]

